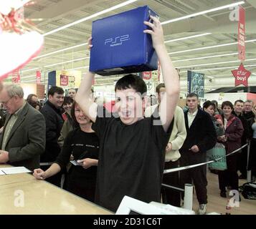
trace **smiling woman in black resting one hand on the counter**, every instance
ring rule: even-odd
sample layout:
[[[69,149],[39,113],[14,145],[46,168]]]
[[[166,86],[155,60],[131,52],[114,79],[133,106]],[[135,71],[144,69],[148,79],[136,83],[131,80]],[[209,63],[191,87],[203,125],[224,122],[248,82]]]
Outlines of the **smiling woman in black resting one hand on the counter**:
[[[84,115],[76,102],[72,105],[71,115],[79,127],[72,130],[65,139],[62,152],[45,172],[34,170],[34,177],[44,180],[57,174],[70,162],[70,155],[78,165],[72,165],[65,180],[65,189],[90,201],[94,201],[98,166],[99,140],[91,129],[92,122]]]

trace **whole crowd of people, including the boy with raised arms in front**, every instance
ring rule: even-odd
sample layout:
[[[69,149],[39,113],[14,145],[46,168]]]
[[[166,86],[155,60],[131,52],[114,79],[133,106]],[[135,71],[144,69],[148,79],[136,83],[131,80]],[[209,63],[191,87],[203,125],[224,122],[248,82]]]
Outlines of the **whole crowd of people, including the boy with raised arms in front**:
[[[113,211],[124,195],[180,207],[184,193],[161,186],[163,182],[176,187],[193,183],[198,213],[205,214],[207,165],[164,175],[163,170],[206,162],[217,142],[229,154],[251,141],[248,165],[245,149],[227,157],[227,170],[217,171],[222,197],[227,187],[238,190],[238,170],[241,178],[247,170],[255,176],[254,103],[225,101],[219,109],[216,101],[207,101],[201,109],[197,94],[190,93],[184,112],[177,106],[179,74],[166,52],[160,22],[151,19],[153,23],[145,21],[151,29],[144,32],[152,36],[164,82],[156,87],[157,104],[148,107],[146,84],[133,74],[116,82],[110,112],[95,103],[93,72],[66,97],[61,87],[51,87],[43,106],[36,94],[25,100],[18,84],[4,85],[0,163],[27,167],[38,180]]]

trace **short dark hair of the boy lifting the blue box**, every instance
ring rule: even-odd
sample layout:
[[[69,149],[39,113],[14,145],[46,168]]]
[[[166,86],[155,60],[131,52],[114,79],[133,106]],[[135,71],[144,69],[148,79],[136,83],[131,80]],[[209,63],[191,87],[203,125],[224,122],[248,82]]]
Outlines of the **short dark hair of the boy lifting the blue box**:
[[[140,77],[134,74],[127,74],[124,77],[118,79],[118,82],[115,84],[115,92],[116,90],[121,89],[135,89],[136,92],[140,92],[143,96],[146,95],[147,87],[146,83]]]

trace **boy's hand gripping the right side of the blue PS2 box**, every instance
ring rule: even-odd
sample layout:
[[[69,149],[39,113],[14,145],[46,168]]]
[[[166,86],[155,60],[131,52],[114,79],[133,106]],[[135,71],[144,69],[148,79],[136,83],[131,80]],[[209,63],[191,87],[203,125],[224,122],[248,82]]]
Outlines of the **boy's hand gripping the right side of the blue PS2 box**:
[[[153,24],[149,21],[144,21],[144,24],[151,27],[152,30],[146,29],[143,32],[146,34],[151,34],[153,47],[154,47],[154,49],[156,49],[156,47],[158,47],[159,45],[164,44],[163,28],[161,26],[160,21],[155,16],[150,16],[150,17],[153,20]]]

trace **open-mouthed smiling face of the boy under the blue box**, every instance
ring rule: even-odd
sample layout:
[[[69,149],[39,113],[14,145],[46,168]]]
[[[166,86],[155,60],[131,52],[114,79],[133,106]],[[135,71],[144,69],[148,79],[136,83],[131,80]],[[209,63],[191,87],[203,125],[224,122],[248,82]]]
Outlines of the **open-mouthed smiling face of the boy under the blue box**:
[[[125,125],[132,125],[141,120],[145,104],[146,97],[142,99],[141,95],[133,88],[115,91],[115,110]]]

